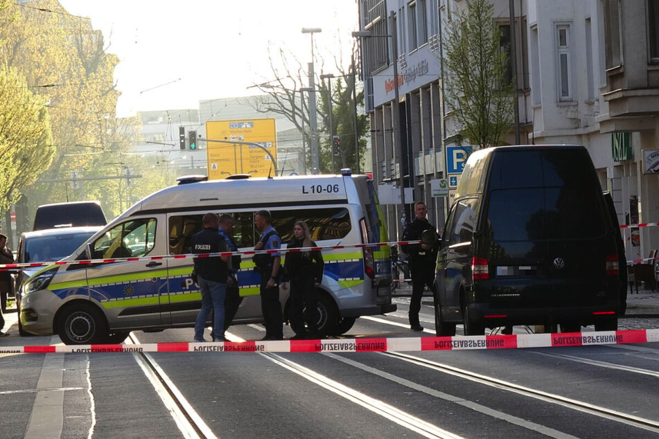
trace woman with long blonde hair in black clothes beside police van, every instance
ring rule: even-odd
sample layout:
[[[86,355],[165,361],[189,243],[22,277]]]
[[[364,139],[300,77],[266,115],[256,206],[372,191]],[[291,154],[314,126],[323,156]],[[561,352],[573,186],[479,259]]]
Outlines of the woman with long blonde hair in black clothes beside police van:
[[[311,240],[306,222],[296,221],[287,249],[301,247],[316,247],[316,243]],[[316,289],[323,280],[323,270],[323,256],[319,250],[286,253],[283,271],[289,283],[290,327],[295,331],[291,340],[319,338]]]

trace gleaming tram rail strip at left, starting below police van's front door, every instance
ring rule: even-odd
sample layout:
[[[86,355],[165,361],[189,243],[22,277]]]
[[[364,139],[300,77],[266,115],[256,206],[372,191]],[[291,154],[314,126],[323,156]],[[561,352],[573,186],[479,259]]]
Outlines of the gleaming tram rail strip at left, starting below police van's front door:
[[[134,341],[133,341],[134,339]],[[130,334],[130,337],[126,339],[126,344],[133,344],[134,342],[139,343],[139,340],[133,333]],[[170,415],[179,428],[181,433],[185,438],[200,438],[200,436],[195,431],[195,428],[191,422],[184,415],[181,407],[186,411],[188,417],[196,424],[197,429],[199,429],[204,437],[206,438],[216,438],[215,433],[207,424],[202,420],[200,415],[197,414],[195,409],[192,408],[190,403],[185,399],[183,394],[179,389],[174,385],[172,380],[167,376],[164,370],[158,366],[157,362],[146,352],[133,354],[135,361],[139,364],[139,367],[142,369],[142,372],[148,378],[149,382],[152,384],[156,393],[160,397],[160,400],[165,405],[166,409],[169,411]],[[146,357],[146,359],[145,359]],[[147,362],[148,360],[148,362]],[[174,398],[179,402],[176,404]]]

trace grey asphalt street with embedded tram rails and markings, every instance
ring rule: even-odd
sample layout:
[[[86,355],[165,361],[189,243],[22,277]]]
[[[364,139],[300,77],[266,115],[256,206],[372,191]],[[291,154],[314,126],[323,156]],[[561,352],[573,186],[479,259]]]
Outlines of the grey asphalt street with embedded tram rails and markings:
[[[398,311],[344,337],[432,337]],[[15,314],[8,320],[15,319]],[[659,319],[621,319],[659,328]],[[11,337],[3,346],[59,343]],[[518,333],[525,328],[516,327]],[[230,330],[263,337],[261,325]],[[461,328],[458,328],[458,333]],[[190,341],[192,329],[134,341]],[[285,335],[292,332],[285,328]],[[650,438],[659,433],[659,343],[366,353],[3,354],[2,438]]]

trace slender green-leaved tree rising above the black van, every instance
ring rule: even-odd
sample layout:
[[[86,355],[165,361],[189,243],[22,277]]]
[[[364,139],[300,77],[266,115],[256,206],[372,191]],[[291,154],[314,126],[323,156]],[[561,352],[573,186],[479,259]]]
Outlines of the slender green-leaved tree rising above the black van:
[[[446,21],[443,81],[460,134],[476,149],[501,145],[513,123],[513,82],[500,50],[500,29],[488,0],[468,0]]]

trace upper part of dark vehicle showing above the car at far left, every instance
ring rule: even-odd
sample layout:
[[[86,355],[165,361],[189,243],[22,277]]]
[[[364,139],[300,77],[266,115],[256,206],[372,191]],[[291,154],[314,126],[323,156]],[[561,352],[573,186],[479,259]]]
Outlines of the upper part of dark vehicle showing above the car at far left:
[[[105,213],[98,201],[71,201],[43,204],[35,213],[32,230],[56,227],[105,226]],[[65,255],[68,256],[68,255]]]

